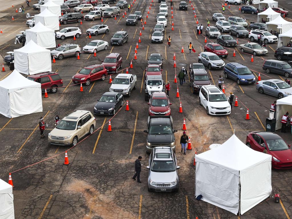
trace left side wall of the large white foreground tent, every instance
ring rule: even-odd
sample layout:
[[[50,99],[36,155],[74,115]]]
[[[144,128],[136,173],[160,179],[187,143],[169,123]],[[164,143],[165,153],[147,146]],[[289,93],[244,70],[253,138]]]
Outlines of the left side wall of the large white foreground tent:
[[[203,201],[236,215],[239,210],[238,185],[238,175],[213,164],[196,163],[195,195],[202,195]]]

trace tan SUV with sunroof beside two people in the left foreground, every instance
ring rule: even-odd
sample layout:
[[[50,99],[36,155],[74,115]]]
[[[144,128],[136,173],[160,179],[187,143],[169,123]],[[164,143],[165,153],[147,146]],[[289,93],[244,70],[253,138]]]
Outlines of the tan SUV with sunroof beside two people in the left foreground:
[[[83,136],[91,135],[95,126],[95,117],[90,111],[76,110],[64,117],[48,134],[52,145],[75,146]]]

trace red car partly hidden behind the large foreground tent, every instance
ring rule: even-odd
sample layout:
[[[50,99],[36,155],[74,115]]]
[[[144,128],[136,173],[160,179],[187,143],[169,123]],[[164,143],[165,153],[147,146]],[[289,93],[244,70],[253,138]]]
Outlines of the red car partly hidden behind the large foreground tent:
[[[246,136],[246,145],[253,150],[272,155],[272,168],[288,169],[292,168],[292,151],[291,145],[273,132],[250,132]]]

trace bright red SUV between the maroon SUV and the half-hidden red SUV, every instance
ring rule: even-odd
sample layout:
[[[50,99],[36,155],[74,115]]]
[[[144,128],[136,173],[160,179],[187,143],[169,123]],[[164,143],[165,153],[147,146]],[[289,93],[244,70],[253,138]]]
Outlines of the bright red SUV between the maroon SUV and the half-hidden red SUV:
[[[107,69],[103,65],[88,65],[81,69],[77,74],[72,77],[74,84],[85,83],[90,85],[91,81],[105,80],[107,76]]]

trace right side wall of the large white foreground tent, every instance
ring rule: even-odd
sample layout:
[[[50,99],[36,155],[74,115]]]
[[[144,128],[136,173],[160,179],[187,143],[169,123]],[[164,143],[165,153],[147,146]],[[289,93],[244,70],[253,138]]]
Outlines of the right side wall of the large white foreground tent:
[[[272,158],[271,158],[272,159]],[[246,171],[240,171],[240,213],[269,197],[272,192],[272,162],[263,162]]]

